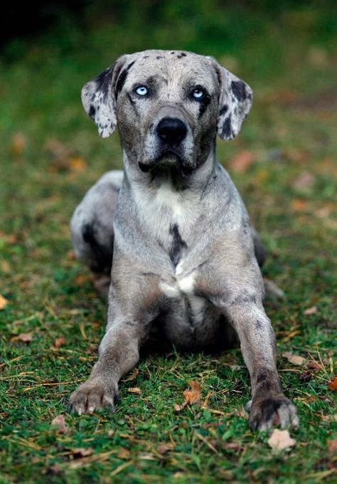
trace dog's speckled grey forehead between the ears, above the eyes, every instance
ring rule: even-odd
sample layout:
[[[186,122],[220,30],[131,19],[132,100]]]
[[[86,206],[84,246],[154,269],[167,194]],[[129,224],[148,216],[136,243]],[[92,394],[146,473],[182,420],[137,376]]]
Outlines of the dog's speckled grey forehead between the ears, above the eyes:
[[[142,51],[128,56],[129,80],[159,75],[161,78],[195,78],[196,83],[215,80],[210,58],[188,51]]]

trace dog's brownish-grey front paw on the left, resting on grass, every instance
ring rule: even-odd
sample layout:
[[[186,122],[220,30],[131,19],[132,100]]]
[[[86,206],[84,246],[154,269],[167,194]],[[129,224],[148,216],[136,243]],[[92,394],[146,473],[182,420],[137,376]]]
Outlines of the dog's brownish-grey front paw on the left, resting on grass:
[[[78,415],[105,407],[114,411],[114,405],[120,400],[118,385],[111,382],[105,383],[101,379],[92,378],[82,383],[71,394],[68,410],[76,411]]]

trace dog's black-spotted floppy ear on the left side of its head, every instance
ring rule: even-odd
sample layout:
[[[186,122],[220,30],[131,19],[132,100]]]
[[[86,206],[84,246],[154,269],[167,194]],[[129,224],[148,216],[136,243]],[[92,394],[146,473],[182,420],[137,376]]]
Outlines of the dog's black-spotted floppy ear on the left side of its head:
[[[82,88],[82,105],[97,125],[102,138],[112,135],[117,125],[116,86],[126,58],[127,56],[119,57],[115,63]]]

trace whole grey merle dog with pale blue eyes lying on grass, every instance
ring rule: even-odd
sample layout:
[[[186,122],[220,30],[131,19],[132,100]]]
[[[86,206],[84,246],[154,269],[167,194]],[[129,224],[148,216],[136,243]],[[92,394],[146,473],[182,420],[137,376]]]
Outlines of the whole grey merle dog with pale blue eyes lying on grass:
[[[106,274],[109,288],[99,359],[70,408],[114,409],[119,379],[160,330],[188,350],[239,340],[252,386],[250,428],[296,426],[262,303],[265,251],[215,155],[217,134],[232,140],[240,131],[251,88],[214,58],[144,51],[85,84],[82,103],[100,136],[118,127],[124,172],[92,186],[71,221],[77,258]]]

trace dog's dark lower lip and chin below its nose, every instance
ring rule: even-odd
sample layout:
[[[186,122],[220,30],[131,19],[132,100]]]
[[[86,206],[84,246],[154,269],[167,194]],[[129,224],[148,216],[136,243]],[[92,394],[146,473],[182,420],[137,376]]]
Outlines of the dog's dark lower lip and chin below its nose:
[[[194,166],[187,159],[184,159],[181,154],[173,150],[162,152],[154,159],[146,160],[146,162],[139,162],[139,168],[142,172],[155,172],[165,169],[173,169],[180,173],[183,177],[190,174]]]

